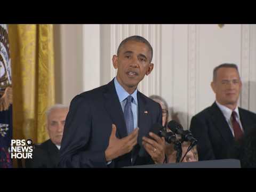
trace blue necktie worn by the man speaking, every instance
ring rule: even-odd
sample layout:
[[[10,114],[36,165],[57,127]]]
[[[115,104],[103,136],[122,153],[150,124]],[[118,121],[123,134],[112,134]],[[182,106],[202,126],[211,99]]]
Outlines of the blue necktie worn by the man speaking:
[[[133,121],[133,114],[132,114],[132,101],[133,98],[129,95],[126,98],[126,104],[124,106],[124,119],[126,123],[127,133],[130,134],[134,129],[134,121]]]

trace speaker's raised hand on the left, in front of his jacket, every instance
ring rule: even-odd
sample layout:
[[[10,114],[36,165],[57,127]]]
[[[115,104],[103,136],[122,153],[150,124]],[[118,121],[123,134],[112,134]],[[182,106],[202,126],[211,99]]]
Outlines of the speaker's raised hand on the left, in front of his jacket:
[[[108,147],[105,150],[106,161],[109,162],[121,155],[129,153],[137,145],[139,128],[134,129],[127,137],[118,139],[116,137],[116,125],[112,124]]]

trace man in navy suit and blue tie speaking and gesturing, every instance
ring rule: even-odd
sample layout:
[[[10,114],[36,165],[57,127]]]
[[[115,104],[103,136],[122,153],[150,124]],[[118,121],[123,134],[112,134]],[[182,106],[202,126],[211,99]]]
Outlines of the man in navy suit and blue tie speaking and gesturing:
[[[165,141],[154,133],[162,109],[137,90],[149,75],[153,49],[140,36],[124,39],[113,56],[117,76],[70,103],[60,148],[60,167],[123,167],[163,163]],[[147,152],[143,151],[146,150]]]

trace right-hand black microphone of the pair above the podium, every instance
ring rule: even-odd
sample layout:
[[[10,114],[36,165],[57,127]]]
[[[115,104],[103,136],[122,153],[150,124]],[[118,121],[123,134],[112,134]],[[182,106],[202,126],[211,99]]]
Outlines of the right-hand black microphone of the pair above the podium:
[[[189,130],[184,131],[181,124],[172,120],[167,124],[167,126],[173,133],[181,135],[181,140],[182,140],[181,142],[183,141],[191,142],[191,145],[189,146],[188,151],[197,144],[197,140],[193,137],[191,131]]]

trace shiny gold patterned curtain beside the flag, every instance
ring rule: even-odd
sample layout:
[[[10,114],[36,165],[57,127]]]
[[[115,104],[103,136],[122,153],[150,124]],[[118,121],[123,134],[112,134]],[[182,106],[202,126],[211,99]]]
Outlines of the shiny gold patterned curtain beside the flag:
[[[9,25],[13,138],[41,143],[47,108],[55,103],[53,25]]]

